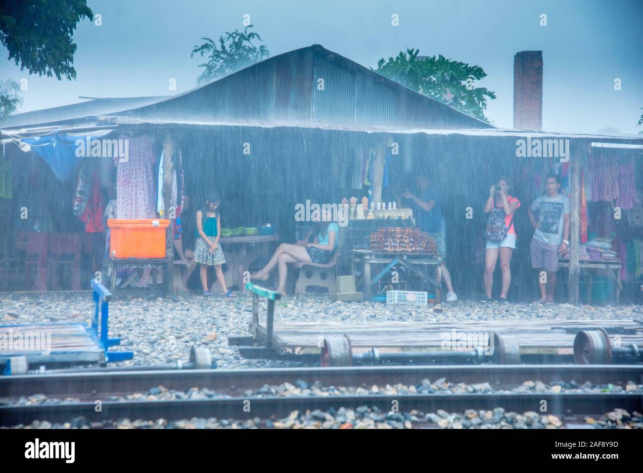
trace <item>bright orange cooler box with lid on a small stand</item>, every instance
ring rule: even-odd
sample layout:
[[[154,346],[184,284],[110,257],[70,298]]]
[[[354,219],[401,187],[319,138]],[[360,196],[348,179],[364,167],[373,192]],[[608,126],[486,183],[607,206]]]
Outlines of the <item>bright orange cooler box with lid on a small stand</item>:
[[[170,225],[163,219],[107,219],[111,228],[109,255],[125,258],[165,258],[165,232]]]

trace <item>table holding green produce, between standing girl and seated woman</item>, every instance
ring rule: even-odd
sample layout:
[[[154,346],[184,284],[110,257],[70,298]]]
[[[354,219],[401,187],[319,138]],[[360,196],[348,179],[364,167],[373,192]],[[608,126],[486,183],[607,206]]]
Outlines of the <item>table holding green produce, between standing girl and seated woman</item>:
[[[248,271],[250,263],[255,261],[259,255],[266,259],[269,257],[269,245],[271,241],[279,241],[278,235],[256,235],[256,236],[238,236],[238,237],[220,237],[219,245],[226,257],[228,269],[223,274],[226,278],[226,286],[230,288],[237,284],[240,292],[246,291],[246,283],[249,283],[249,277],[244,281],[244,272]],[[210,292],[219,293],[221,288],[217,281],[213,281]]]

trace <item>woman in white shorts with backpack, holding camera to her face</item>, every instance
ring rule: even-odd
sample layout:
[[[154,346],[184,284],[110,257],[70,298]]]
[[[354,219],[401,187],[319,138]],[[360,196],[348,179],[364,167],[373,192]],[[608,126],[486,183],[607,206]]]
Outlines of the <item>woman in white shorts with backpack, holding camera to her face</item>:
[[[502,291],[500,301],[507,302],[507,293],[511,284],[511,255],[516,248],[516,230],[514,230],[514,212],[520,207],[520,201],[507,194],[509,178],[501,176],[496,185],[489,189],[489,198],[484,206],[487,218],[487,246],[485,247],[484,289],[487,301],[491,301],[493,288],[493,271],[500,254],[500,269],[502,270]]]

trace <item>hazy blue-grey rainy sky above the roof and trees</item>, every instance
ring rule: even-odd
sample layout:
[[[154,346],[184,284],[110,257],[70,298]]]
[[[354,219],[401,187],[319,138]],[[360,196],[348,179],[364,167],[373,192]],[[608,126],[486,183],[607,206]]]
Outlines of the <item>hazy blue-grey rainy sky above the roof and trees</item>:
[[[481,66],[496,93],[487,116],[511,128],[513,57],[543,51],[543,129],[638,133],[643,107],[643,0],[89,0],[102,26],[78,25],[76,80],[27,75],[0,60],[0,79],[28,79],[19,112],[78,96],[170,95],[194,88],[201,37],[242,29],[249,14],[271,55],[311,44],[376,66],[406,48]],[[391,15],[399,15],[399,26]],[[540,26],[540,15],[547,26]],[[8,56],[0,48],[3,57]],[[168,80],[176,79],[176,91]],[[620,79],[622,89],[614,89]]]

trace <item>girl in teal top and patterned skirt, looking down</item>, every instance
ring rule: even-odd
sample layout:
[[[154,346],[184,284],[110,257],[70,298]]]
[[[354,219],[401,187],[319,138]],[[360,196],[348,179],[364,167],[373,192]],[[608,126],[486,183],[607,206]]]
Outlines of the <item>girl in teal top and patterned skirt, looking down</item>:
[[[221,205],[221,198],[217,192],[213,192],[212,196],[206,199],[204,209],[197,212],[197,230],[195,232],[197,241],[194,248],[194,261],[201,264],[203,295],[212,295],[208,290],[208,266],[214,266],[222,291],[226,297],[230,297],[232,291],[226,288],[226,281],[221,270],[221,264],[226,262],[226,258],[221,246],[219,246],[219,235],[221,235],[221,218],[217,211],[219,205]]]

